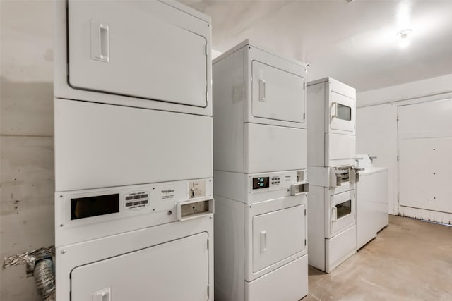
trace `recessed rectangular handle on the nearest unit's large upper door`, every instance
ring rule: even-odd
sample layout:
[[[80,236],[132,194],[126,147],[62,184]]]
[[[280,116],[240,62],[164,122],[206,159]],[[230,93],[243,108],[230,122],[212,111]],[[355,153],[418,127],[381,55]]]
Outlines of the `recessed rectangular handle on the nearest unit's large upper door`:
[[[108,24],[91,20],[91,59],[108,63],[109,52]]]

